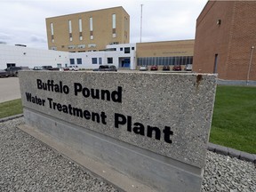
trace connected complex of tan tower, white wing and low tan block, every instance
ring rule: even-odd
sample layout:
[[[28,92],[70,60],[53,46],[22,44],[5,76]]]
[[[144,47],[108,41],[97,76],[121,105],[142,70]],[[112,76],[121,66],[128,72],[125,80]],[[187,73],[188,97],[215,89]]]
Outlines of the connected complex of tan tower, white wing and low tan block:
[[[49,50],[0,45],[0,69],[11,66],[76,66],[138,69],[141,65],[192,64],[194,40],[129,44],[130,16],[123,7],[80,12],[46,19]]]

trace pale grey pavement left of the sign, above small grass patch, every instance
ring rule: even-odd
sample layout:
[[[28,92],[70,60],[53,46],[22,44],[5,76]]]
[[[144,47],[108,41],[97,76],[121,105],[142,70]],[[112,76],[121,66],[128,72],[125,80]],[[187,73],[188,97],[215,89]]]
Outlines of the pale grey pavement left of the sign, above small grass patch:
[[[20,99],[20,84],[18,77],[0,78],[0,103]]]

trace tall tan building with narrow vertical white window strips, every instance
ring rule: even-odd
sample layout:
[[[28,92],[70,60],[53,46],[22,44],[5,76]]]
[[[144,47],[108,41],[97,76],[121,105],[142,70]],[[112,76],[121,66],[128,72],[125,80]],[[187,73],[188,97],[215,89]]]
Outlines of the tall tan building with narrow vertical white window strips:
[[[130,16],[122,6],[46,18],[49,50],[103,51],[130,43]]]

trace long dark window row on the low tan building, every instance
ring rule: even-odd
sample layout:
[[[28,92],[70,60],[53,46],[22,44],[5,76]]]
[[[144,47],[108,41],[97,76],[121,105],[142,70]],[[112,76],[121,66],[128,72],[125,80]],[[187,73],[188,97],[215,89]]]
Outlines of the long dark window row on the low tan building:
[[[138,58],[138,66],[152,66],[152,65],[187,65],[193,63],[193,56],[180,57],[147,57]]]

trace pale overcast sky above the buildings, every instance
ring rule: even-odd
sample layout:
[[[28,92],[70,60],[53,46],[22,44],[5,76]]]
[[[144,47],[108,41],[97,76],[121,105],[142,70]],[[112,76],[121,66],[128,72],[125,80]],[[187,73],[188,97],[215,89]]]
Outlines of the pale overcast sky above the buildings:
[[[48,49],[45,18],[123,6],[130,43],[194,39],[207,0],[0,0],[0,42]]]

